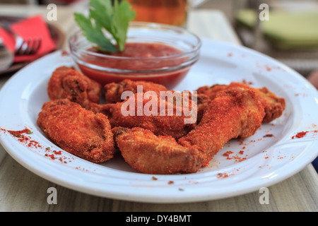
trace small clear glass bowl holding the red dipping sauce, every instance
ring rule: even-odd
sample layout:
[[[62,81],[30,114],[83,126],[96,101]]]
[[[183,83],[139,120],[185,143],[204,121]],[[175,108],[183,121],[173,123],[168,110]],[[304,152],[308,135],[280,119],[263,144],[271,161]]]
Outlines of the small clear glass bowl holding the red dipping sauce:
[[[164,44],[179,49],[172,55],[149,56],[142,48],[138,57],[122,57],[101,53],[93,48],[81,31],[69,39],[71,56],[79,69],[102,85],[124,79],[152,81],[174,88],[199,59],[201,40],[184,28],[159,23],[131,22],[126,45]],[[156,49],[157,51],[157,49]]]

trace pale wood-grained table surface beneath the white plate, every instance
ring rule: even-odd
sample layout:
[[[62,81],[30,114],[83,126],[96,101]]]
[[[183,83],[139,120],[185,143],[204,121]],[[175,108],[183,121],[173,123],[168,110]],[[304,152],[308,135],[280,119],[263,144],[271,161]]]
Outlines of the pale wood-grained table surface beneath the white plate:
[[[76,26],[70,16],[73,11],[83,11],[86,1],[57,7],[57,20],[50,21],[66,34]],[[26,9],[27,7],[27,9]],[[0,15],[31,16],[41,14],[46,18],[45,6],[1,5]],[[221,11],[195,9],[189,13],[188,28],[201,37],[240,44],[230,23]],[[66,35],[67,38],[67,35]],[[66,47],[66,45],[65,45]],[[0,89],[10,75],[0,77]],[[57,189],[57,204],[47,203],[47,189]],[[213,201],[194,203],[139,203],[101,198],[66,189],[33,174],[18,164],[0,145],[0,211],[318,211],[318,176],[312,165],[283,182],[269,187],[269,204],[259,203],[258,191]]]

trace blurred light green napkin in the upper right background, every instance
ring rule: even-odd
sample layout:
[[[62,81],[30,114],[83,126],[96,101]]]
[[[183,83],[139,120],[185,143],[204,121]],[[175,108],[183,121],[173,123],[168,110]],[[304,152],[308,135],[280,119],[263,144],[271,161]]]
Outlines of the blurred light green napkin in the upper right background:
[[[252,10],[239,11],[235,18],[249,28],[259,19]],[[281,49],[318,47],[318,11],[270,11],[269,20],[261,21],[260,29]]]

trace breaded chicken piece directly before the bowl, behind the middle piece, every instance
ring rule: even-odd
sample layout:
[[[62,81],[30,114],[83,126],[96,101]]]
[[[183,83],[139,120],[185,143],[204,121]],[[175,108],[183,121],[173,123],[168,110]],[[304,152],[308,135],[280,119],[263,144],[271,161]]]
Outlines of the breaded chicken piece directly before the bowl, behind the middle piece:
[[[167,88],[165,88],[164,85],[152,83],[149,81],[131,81],[129,79],[125,79],[124,81],[121,81],[119,83],[108,83],[104,86],[106,103],[110,104],[122,102],[122,93],[124,91],[137,93],[137,85],[142,85],[143,93],[146,93],[147,91],[167,91]]]

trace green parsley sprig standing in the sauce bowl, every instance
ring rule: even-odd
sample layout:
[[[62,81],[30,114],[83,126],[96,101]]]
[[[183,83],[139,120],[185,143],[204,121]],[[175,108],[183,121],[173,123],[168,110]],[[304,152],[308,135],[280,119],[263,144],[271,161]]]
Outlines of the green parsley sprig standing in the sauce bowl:
[[[90,0],[88,17],[81,13],[74,13],[74,16],[88,41],[97,44],[103,52],[117,52],[124,50],[129,22],[136,13],[131,11],[127,1],[115,0],[112,4],[111,0]]]

